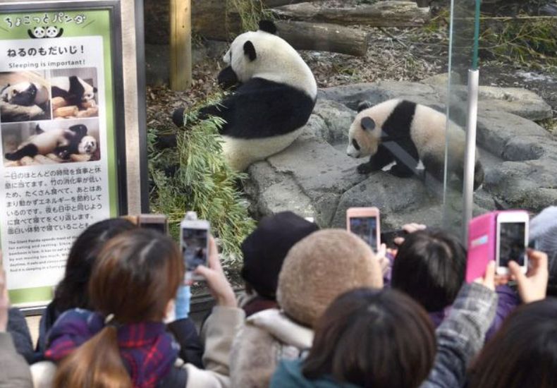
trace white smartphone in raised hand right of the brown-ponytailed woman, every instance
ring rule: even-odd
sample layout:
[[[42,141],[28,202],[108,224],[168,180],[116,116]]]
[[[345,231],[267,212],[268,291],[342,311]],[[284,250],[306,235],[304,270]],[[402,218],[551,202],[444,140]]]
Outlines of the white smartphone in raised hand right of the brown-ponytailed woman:
[[[206,219],[184,219],[180,223],[180,249],[185,263],[185,280],[204,280],[193,272],[198,265],[209,267],[209,222]]]

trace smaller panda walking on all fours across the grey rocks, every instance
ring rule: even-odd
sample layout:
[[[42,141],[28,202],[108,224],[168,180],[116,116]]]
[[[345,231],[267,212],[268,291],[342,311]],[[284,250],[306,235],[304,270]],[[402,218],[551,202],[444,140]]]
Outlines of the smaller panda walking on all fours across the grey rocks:
[[[427,173],[443,181],[447,117],[429,107],[404,99],[390,99],[372,107],[362,103],[348,132],[350,157],[370,156],[369,162],[357,166],[360,174],[378,171],[396,162],[389,172],[408,177],[419,161]],[[449,131],[448,171],[462,182],[464,174],[465,131],[451,123]],[[474,190],[484,181],[484,169],[477,158]]]

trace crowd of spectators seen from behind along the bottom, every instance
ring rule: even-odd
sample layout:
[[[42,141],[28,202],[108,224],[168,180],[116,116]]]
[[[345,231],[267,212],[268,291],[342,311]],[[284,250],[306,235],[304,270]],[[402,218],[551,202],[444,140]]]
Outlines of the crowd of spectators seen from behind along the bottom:
[[[526,274],[490,262],[472,283],[446,231],[408,224],[374,253],[290,212],[264,218],[240,295],[210,238],[199,330],[176,243],[108,219],[73,244],[35,347],[0,266],[0,388],[557,388],[556,218],[532,219]]]

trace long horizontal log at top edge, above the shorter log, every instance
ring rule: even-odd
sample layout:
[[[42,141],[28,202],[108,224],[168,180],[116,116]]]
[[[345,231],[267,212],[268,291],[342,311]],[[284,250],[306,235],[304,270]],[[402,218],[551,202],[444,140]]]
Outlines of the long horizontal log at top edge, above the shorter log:
[[[379,1],[353,8],[322,8],[312,3],[274,8],[279,18],[372,27],[420,27],[429,20],[429,8],[413,1]]]

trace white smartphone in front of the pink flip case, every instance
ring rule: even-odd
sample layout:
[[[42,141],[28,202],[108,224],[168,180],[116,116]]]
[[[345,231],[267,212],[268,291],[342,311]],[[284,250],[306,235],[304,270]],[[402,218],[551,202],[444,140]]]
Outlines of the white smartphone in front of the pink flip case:
[[[522,273],[528,269],[528,213],[524,211],[497,214],[495,260],[498,274],[508,274],[508,262],[515,261]]]

